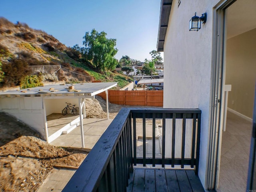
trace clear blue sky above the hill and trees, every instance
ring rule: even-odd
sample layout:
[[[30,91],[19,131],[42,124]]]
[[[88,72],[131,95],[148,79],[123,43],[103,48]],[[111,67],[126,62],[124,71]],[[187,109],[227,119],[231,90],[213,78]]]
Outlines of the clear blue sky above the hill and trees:
[[[0,16],[43,30],[66,46],[82,46],[85,33],[95,28],[116,39],[118,60],[128,55],[144,61],[156,50],[161,0],[1,0],[0,4]]]

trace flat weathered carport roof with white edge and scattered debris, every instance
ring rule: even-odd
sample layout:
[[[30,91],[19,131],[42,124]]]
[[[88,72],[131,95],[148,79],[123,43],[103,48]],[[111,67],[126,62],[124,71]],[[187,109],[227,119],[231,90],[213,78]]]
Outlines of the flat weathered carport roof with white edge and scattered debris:
[[[115,87],[117,82],[101,82],[101,83],[79,83],[79,84],[58,84],[39,86],[34,88],[27,88],[15,91],[0,92],[0,96],[5,95],[65,95],[65,94],[78,94],[94,96],[101,92],[104,92],[112,87]],[[74,86],[74,90],[69,90],[69,86]]]

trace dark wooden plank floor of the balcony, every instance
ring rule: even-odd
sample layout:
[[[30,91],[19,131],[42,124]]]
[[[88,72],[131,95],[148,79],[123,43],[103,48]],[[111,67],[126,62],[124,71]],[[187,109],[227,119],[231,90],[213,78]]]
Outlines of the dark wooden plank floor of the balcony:
[[[193,170],[135,168],[127,192],[204,192]]]

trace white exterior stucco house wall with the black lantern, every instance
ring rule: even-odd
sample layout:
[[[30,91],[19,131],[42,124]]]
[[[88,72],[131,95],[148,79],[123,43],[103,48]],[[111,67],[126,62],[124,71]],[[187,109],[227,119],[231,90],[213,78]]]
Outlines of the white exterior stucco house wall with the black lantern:
[[[203,185],[209,130],[212,14],[217,2],[181,1],[178,8],[177,0],[173,0],[164,42],[164,108],[202,110],[199,178]],[[207,22],[198,32],[189,31],[189,21],[195,12],[197,16],[207,12]],[[166,125],[170,136],[171,121]]]

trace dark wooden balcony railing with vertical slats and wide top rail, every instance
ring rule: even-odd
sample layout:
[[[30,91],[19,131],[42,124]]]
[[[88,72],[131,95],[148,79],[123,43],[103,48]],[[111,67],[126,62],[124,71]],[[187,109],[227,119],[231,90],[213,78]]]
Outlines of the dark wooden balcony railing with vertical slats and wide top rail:
[[[138,118],[143,123],[143,156],[137,157],[136,125]],[[152,119],[152,157],[146,157],[146,120]],[[155,129],[156,120],[162,120],[162,158],[156,158]],[[166,119],[172,119],[172,148],[166,146]],[[182,119],[182,127],[176,126],[176,120]],[[185,158],[186,120],[191,119],[190,129],[191,155]],[[122,108],[116,118],[90,151],[84,162],[63,189],[70,191],[126,191],[130,172],[136,164],[190,165],[198,174],[200,151],[200,120],[199,109],[162,109],[162,108]],[[175,157],[175,132],[182,129],[181,158]],[[166,158],[166,150],[171,157]]]

